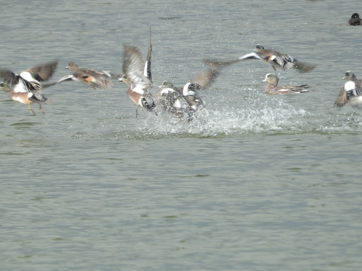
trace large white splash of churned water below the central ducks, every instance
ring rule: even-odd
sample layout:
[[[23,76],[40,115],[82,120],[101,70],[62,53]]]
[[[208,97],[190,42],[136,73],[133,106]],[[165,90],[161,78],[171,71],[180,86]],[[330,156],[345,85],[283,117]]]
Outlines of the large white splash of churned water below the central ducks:
[[[277,103],[277,104],[275,104]],[[263,104],[249,101],[243,108],[210,108],[197,112],[191,122],[179,121],[169,115],[137,120],[136,134],[149,137],[222,137],[245,133],[290,133],[299,131],[298,120],[308,115],[280,100]],[[132,137],[132,136],[131,136]]]

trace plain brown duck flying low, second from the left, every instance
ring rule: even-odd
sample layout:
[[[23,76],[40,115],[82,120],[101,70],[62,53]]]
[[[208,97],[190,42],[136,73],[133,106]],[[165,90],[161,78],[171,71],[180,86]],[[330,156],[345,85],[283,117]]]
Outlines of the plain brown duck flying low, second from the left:
[[[112,86],[112,80],[104,79],[104,77],[112,77],[108,71],[79,68],[74,62],[70,62],[65,68],[73,70],[74,73],[59,78],[56,83],[76,81],[89,85],[92,89],[96,89],[97,87],[100,89],[109,89]]]

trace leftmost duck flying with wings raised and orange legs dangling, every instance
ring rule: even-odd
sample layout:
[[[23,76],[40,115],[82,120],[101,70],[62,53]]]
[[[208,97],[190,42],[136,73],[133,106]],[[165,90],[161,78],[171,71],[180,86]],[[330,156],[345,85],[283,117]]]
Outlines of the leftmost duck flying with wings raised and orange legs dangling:
[[[39,109],[44,114],[42,104],[51,102],[42,93],[43,86],[40,82],[47,81],[54,73],[58,66],[58,60],[52,60],[47,63],[40,64],[28,68],[19,74],[8,69],[0,70],[0,77],[5,82],[0,83],[0,90],[8,93],[9,98],[23,104],[28,104],[28,110],[35,115],[30,104],[39,104]],[[12,87],[10,87],[10,86]]]

